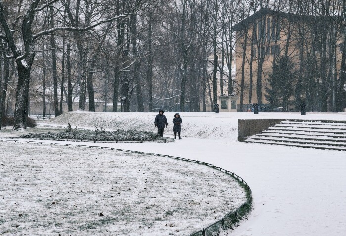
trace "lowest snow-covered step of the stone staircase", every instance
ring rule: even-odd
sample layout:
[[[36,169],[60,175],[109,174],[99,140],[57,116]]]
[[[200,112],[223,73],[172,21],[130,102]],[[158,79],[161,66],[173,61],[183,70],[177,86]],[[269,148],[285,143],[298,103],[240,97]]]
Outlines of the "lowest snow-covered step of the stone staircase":
[[[338,147],[345,147],[345,142],[335,142],[335,141],[327,141],[327,140],[307,140],[307,139],[290,139],[286,137],[250,137],[251,140],[265,140],[265,141],[277,141],[284,143],[295,143],[295,144],[316,144],[316,145],[332,145]]]

